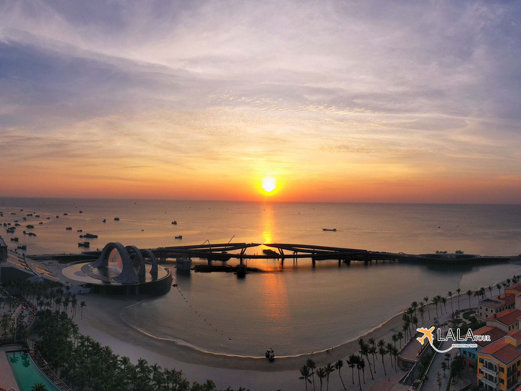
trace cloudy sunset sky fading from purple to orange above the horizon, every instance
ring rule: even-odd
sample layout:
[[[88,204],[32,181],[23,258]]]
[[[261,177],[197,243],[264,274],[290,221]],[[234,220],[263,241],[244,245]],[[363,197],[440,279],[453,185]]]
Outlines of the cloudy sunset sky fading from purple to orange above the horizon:
[[[0,196],[519,203],[520,21],[495,0],[0,2]]]

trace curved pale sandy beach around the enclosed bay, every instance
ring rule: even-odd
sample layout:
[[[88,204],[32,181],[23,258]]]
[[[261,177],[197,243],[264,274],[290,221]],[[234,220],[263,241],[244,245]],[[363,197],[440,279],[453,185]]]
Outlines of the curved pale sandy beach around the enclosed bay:
[[[463,299],[462,296],[460,302],[465,303],[467,307],[468,296]],[[295,389],[303,386],[302,381],[298,380],[299,368],[308,358],[311,357],[317,366],[321,366],[338,359],[345,360],[358,350],[357,340],[353,340],[333,347],[329,353],[321,351],[314,352],[313,355],[307,353],[295,357],[277,357],[275,362],[269,362],[264,357],[221,355],[194,348],[183,341],[156,338],[130,326],[121,319],[120,314],[125,308],[138,302],[137,299],[88,294],[82,295],[82,300],[87,303],[83,311],[83,319],[80,319],[80,316],[75,317],[82,334],[90,335],[103,345],[109,345],[120,356],[129,356],[132,362],[145,358],[149,363],[157,362],[163,368],[182,369],[191,381],[202,382],[206,378],[212,378],[220,388],[230,385],[232,388],[243,386],[251,390],[264,390],[274,389],[276,385],[277,389]],[[453,296],[452,300],[456,304],[457,296]],[[474,301],[477,302],[477,299],[473,297],[471,301],[475,305]],[[450,300],[447,304],[450,304]],[[432,305],[430,310],[432,318],[432,311],[436,312],[436,310]],[[363,338],[367,340],[373,337],[384,339],[386,342],[391,341],[391,336],[401,331],[401,314],[400,311],[387,322],[365,333]],[[428,322],[426,315],[425,323]],[[377,361],[376,364],[378,371],[381,363]],[[349,368],[346,365],[344,367],[346,376]],[[394,370],[388,369],[388,373],[394,374]],[[381,374],[375,377],[375,381],[379,378],[382,378]],[[365,381],[368,382],[367,385],[373,382],[367,371]],[[349,385],[352,386],[352,383]],[[338,376],[331,377],[330,387],[343,389]]]

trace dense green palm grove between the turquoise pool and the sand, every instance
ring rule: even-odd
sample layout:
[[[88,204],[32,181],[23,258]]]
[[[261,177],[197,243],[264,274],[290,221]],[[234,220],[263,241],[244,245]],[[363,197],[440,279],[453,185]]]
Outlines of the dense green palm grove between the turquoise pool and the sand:
[[[38,312],[34,331],[41,340],[38,347],[49,366],[71,388],[93,391],[214,391],[212,380],[190,382],[182,371],[149,365],[144,359],[132,364],[128,357],[115,355],[90,336],[79,333],[66,311],[44,309]],[[229,391],[232,391],[228,387]],[[240,388],[240,391],[245,388]]]

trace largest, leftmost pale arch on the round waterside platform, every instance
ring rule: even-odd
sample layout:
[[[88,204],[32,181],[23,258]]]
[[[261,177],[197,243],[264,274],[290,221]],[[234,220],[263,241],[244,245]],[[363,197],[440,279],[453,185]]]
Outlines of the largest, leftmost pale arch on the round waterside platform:
[[[138,251],[139,252],[139,251]],[[140,252],[139,252],[140,253]],[[141,254],[141,253],[140,253]],[[143,257],[141,256],[141,259]],[[111,265],[109,265],[109,262]],[[114,263],[115,265],[113,265]],[[144,265],[144,261],[143,261]],[[114,281],[121,284],[137,284],[139,277],[135,274],[134,266],[129,252],[121,243],[110,242],[103,248],[100,258],[91,263],[92,267],[112,267],[120,271],[119,275],[113,277]],[[140,268],[141,270],[141,268]]]

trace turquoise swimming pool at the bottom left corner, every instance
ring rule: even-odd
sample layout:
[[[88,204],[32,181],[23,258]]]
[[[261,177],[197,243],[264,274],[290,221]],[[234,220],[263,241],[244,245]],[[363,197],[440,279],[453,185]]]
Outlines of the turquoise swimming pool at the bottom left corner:
[[[40,368],[38,368],[38,365],[36,365],[29,353],[20,351],[7,353],[7,359],[9,360],[11,368],[13,368],[13,373],[15,374],[20,391],[31,391],[31,386],[35,383],[43,383],[48,391],[60,391],[60,389],[40,371]]]

